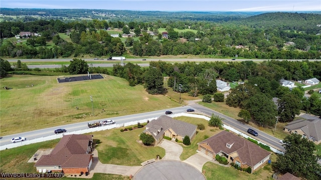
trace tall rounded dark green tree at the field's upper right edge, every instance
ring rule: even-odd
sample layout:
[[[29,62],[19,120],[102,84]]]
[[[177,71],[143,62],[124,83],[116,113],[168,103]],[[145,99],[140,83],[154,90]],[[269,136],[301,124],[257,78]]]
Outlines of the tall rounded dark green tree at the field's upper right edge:
[[[151,94],[162,93],[163,87],[163,74],[159,68],[150,67],[144,74],[144,88]]]

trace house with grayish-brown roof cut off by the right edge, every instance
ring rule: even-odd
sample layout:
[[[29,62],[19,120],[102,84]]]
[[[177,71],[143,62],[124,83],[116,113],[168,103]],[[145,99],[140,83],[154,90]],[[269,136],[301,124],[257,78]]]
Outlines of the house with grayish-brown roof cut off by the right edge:
[[[293,120],[284,126],[284,131],[300,134],[318,144],[321,142],[321,119]]]

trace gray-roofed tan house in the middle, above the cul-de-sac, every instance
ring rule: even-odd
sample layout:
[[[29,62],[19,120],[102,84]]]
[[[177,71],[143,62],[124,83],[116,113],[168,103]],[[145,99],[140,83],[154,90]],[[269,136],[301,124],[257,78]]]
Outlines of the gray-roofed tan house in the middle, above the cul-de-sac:
[[[151,120],[145,127],[146,129],[143,132],[154,137],[155,145],[157,145],[164,136],[183,141],[184,137],[188,135],[192,140],[196,135],[197,129],[197,125],[176,120],[167,115],[161,115],[157,119]]]

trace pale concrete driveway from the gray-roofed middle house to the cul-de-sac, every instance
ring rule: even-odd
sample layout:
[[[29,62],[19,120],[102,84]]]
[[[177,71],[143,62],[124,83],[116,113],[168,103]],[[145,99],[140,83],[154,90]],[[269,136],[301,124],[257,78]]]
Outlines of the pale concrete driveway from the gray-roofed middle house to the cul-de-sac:
[[[183,147],[181,145],[167,139],[161,140],[161,142],[159,142],[157,145],[165,149],[165,156],[162,157],[162,159],[181,160],[180,155],[183,152]]]

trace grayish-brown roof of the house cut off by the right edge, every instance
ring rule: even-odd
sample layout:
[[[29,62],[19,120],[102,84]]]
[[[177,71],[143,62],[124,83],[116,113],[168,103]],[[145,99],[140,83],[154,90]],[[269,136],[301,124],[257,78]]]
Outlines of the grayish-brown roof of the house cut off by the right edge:
[[[321,140],[321,119],[298,119],[284,126],[287,129],[301,129],[307,137],[319,141]]]

